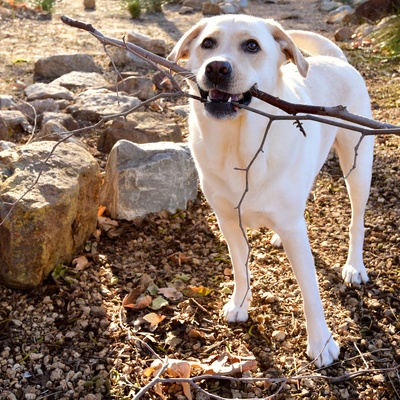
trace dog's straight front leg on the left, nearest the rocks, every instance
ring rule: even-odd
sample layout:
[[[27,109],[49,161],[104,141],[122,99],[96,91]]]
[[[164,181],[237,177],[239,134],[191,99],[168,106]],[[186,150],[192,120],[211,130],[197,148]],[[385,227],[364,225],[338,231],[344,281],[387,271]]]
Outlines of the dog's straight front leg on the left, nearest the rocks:
[[[223,309],[224,316],[228,322],[246,321],[251,300],[247,238],[237,221],[219,220],[219,226],[228,243],[235,280],[232,297]]]

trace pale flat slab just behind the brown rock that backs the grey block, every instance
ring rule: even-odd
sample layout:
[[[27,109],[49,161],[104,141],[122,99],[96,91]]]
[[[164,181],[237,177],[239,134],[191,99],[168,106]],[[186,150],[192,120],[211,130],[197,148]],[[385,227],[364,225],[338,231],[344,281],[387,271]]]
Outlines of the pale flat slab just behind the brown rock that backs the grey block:
[[[80,93],[66,111],[78,120],[98,122],[104,115],[119,114],[140,104],[136,97],[107,89],[88,89]]]

